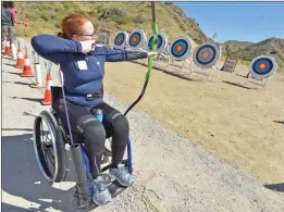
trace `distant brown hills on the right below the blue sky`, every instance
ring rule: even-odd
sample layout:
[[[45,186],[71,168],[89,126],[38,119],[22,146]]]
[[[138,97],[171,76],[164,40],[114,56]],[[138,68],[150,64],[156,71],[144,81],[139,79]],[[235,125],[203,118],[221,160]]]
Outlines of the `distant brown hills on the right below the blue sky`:
[[[229,40],[223,43],[223,54],[251,61],[261,54],[274,53],[280,67],[284,67],[284,39],[269,38],[260,42]]]

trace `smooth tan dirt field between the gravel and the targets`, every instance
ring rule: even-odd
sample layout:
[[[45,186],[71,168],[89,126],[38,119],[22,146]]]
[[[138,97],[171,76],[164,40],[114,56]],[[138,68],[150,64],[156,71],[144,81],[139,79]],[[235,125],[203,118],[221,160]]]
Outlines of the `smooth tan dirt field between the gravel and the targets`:
[[[147,67],[107,67],[106,90],[132,103]],[[275,74],[260,91],[238,86],[245,84],[247,72],[237,66],[233,74],[220,72],[218,83],[205,84],[156,70],[138,108],[262,183],[283,183],[284,75]]]

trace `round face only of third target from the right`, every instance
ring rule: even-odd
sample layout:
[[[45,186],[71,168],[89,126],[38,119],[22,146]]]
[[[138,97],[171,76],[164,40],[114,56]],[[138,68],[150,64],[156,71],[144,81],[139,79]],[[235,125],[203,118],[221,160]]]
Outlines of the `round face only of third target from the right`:
[[[175,38],[170,45],[170,57],[175,61],[187,59],[193,49],[192,43],[192,40],[186,36]]]

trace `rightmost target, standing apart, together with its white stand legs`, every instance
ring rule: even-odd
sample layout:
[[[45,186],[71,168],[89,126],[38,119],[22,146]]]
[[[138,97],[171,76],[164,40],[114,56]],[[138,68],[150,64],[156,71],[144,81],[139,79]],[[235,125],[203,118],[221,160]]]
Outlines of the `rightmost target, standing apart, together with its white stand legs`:
[[[249,64],[249,74],[246,85],[254,84],[260,86],[263,90],[269,77],[276,72],[277,63],[271,55],[259,55]]]

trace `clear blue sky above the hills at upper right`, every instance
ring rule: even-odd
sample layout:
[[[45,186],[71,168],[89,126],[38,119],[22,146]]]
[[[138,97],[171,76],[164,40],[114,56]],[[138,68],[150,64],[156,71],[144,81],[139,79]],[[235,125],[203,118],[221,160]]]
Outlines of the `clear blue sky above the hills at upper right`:
[[[284,2],[174,2],[217,41],[284,38]]]

